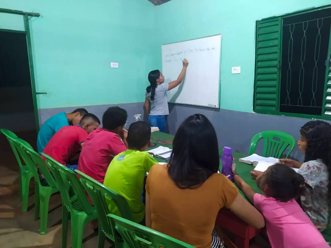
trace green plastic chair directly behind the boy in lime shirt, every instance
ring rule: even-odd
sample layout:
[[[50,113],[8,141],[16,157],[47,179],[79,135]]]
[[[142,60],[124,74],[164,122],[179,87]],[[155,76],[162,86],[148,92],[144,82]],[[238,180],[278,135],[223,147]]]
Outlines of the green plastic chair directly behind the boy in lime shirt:
[[[106,236],[115,242],[115,237],[111,229],[110,220],[106,218],[107,215],[111,212],[109,211],[105,197],[111,199],[116,204],[119,213],[123,218],[133,221],[129,204],[127,203],[126,199],[119,193],[102,185],[101,183],[87,176],[83,172],[79,170],[75,171],[80,175],[80,181],[86,189],[88,195],[91,197],[94,207],[97,211],[99,223],[98,248],[103,248]]]

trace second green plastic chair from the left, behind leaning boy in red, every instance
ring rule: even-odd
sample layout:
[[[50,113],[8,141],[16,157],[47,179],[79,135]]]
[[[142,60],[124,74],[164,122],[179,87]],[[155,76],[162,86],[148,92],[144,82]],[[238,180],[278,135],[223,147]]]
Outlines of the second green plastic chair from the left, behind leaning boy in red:
[[[16,138],[16,148],[23,158],[25,164],[33,172],[35,182],[35,203],[34,220],[38,220],[40,209],[40,234],[47,232],[48,205],[52,194],[59,192],[59,188],[51,173],[49,172],[44,160],[33,150],[26,141]],[[45,177],[45,181],[40,181],[38,167]]]

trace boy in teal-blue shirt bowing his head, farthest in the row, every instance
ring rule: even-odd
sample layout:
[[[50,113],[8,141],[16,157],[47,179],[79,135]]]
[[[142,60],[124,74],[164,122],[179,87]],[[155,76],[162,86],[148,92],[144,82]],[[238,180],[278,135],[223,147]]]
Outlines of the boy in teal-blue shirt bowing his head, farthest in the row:
[[[37,137],[38,153],[41,153],[53,135],[62,127],[79,124],[84,114],[88,113],[84,108],[77,108],[69,114],[58,113],[50,117],[41,126]]]

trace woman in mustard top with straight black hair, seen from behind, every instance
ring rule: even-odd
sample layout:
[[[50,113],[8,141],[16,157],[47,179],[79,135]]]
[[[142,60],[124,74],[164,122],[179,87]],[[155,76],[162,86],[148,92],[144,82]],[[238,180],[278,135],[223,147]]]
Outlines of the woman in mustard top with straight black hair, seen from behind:
[[[223,247],[213,230],[218,211],[230,209],[249,225],[264,227],[263,216],[219,174],[218,143],[202,114],[179,127],[167,165],[154,165],[146,182],[146,226],[201,248]]]

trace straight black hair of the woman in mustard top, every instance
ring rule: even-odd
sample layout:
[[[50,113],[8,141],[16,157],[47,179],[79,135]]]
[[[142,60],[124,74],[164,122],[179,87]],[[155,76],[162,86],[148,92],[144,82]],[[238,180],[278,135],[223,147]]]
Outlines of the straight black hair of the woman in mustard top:
[[[202,114],[189,116],[173,139],[169,177],[179,188],[196,188],[218,168],[218,144],[212,123]]]

